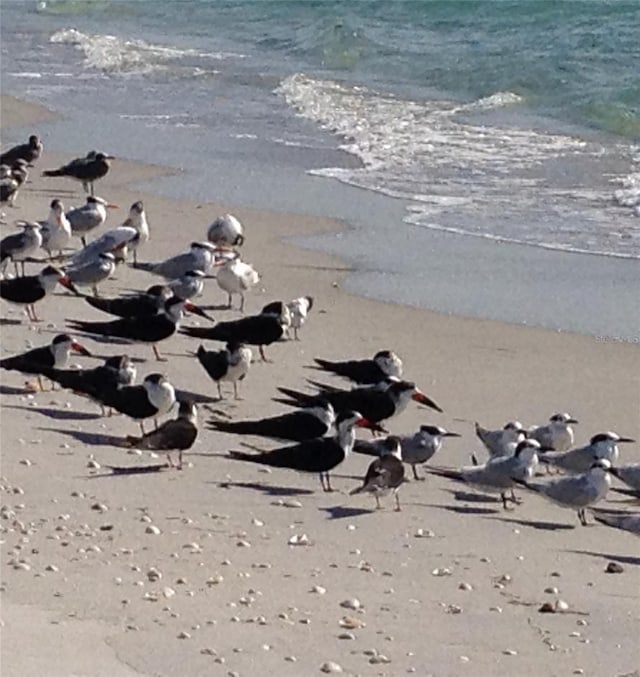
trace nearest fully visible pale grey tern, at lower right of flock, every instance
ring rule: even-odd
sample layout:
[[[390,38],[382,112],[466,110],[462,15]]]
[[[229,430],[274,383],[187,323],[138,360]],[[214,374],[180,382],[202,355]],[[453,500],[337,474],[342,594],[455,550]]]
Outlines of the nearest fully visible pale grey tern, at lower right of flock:
[[[589,470],[580,475],[560,477],[546,483],[516,479],[517,484],[535,491],[563,508],[577,510],[578,519],[587,525],[586,508],[604,499],[611,486],[611,463],[605,458],[597,460]]]

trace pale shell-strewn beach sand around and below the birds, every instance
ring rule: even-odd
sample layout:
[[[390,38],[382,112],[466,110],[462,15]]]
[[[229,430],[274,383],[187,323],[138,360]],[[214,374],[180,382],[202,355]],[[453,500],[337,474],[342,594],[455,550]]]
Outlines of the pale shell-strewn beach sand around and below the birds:
[[[19,107],[12,121],[32,120],[37,130],[43,119],[37,107],[11,105]],[[53,197],[81,203],[75,184],[39,176],[73,155],[45,152],[9,218],[44,218]],[[152,239],[141,250],[143,260],[203,239],[213,218],[231,211],[246,227],[243,258],[262,274],[247,312],[273,299],[316,299],[302,340],[268,349],[274,362],[252,366],[242,384],[245,399],[214,408],[232,418],[276,413],[276,386],[302,386],[315,375],[304,368],[312,357],[366,357],[391,348],[403,357],[408,377],[446,412],[410,406],[389,423],[391,431],[431,422],[462,434],[433,459],[438,465],[466,464],[479,450],[475,420],[533,424],[568,410],[581,421],[579,442],[602,430],[640,438],[637,345],[350,296],[340,288],[347,272],[341,261],[284,241],[321,230],[339,237],[340,224],[135,190],[134,181],[161,171],[116,160],[98,184],[99,195],[122,206],[110,215],[112,227],[129,204],[145,201]],[[2,227],[3,235],[11,230]],[[153,280],[120,268],[103,293]],[[203,302],[224,300],[210,282]],[[3,318],[21,320],[2,327],[3,356],[47,343],[65,318],[105,319],[66,293],[43,302],[39,313],[44,322],[30,326],[21,311],[2,303]],[[218,319],[237,316],[216,313]],[[121,352],[85,344],[99,354]],[[172,337],[164,346],[170,361],[160,365],[149,359],[148,347],[128,352],[147,360],[141,375],[160,369],[178,387],[213,395],[214,384],[189,354],[196,347],[194,340]],[[458,500],[457,487],[432,477],[403,488],[402,512],[393,511],[390,498],[375,511],[370,497],[348,495],[366,457],[341,466],[334,476],[338,491],[325,494],[315,476],[269,473],[226,459],[242,440],[206,429],[182,472],[100,477],[101,470],[89,467],[92,459],[153,461],[146,452],[130,455],[74,435],[95,433],[99,441],[100,434],[133,434],[136,424],[122,416],[99,418],[95,405],[65,391],[22,393],[25,380],[2,372],[3,677],[299,677],[322,674],[327,661],[345,674],[390,676],[628,675],[640,669],[640,541],[631,534],[580,527],[571,511],[530,495],[512,512],[474,492]],[[201,408],[200,415],[202,421],[210,413]],[[625,445],[622,460],[640,460],[639,446]],[[160,533],[146,533],[150,524]],[[307,545],[289,545],[302,534]],[[605,573],[610,560],[622,563],[622,574]],[[152,569],[159,580],[149,580]],[[341,606],[354,599],[361,608]],[[538,612],[559,599],[566,612]],[[351,620],[343,625],[354,627],[341,626],[345,617]]]

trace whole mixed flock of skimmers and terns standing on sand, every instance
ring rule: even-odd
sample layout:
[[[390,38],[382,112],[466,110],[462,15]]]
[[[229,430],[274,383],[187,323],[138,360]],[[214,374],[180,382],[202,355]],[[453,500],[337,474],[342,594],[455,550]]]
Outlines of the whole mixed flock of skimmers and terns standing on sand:
[[[2,202],[13,205],[20,187],[28,176],[28,168],[40,158],[42,144],[31,136],[26,144],[2,153],[0,187]],[[106,321],[68,321],[75,335],[96,341],[147,343],[156,360],[162,360],[158,345],[179,332],[200,340],[225,344],[219,350],[208,350],[200,344],[195,356],[212,381],[218,397],[223,398],[222,385],[231,384],[239,398],[239,384],[247,376],[253,353],[258,348],[263,361],[268,361],[265,348],[284,339],[299,340],[313,307],[313,299],[301,296],[289,302],[274,301],[260,313],[239,319],[215,322],[195,300],[202,296],[206,280],[215,278],[227,294],[227,308],[234,297],[240,297],[239,310],[244,310],[245,293],[259,282],[259,275],[242,261],[238,247],[244,242],[244,228],[230,214],[217,218],[207,229],[207,239],[192,242],[187,251],[166,260],[147,263],[138,259],[139,250],[149,239],[149,224],[144,205],[135,202],[128,218],[117,228],[87,241],[107,219],[115,207],[94,194],[94,182],[109,171],[105,153],[91,151],[44,176],[66,176],[80,181],[89,192],[86,204],[65,211],[59,199],[50,204],[49,215],[41,222],[18,222],[21,231],[0,242],[0,296],[26,308],[29,321],[38,317],[35,305],[49,296],[60,284],[94,309],[114,316]],[[80,238],[82,248],[71,251],[73,238]],[[38,257],[45,252],[47,259]],[[58,265],[53,265],[54,262]],[[111,277],[118,265],[131,265],[162,279],[144,291],[118,297],[99,295],[99,285]],[[15,276],[7,276],[9,263]],[[25,274],[26,263],[46,263],[36,275]],[[90,288],[89,295],[81,289]],[[181,327],[185,313],[198,315],[204,326]],[[67,369],[72,351],[91,353],[69,334],[56,336],[50,345],[0,360],[2,369],[35,375],[38,387],[43,379],[97,402],[103,410],[115,410],[140,426],[139,436],[128,436],[123,445],[139,449],[164,451],[168,464],[146,467],[140,471],[182,467],[182,454],[198,437],[196,404],[189,394],[178,391],[161,373],[145,377],[135,385],[136,369],[127,355],[112,356],[104,364],[90,369]],[[317,358],[310,368],[327,375],[346,379],[349,387],[308,379],[313,390],[278,388],[274,398],[288,407],[282,414],[255,420],[211,418],[211,430],[242,436],[259,436],[278,440],[283,446],[267,451],[232,451],[229,457],[243,462],[319,475],[323,490],[331,491],[330,473],[352,453],[371,456],[363,482],[351,493],[373,495],[377,507],[386,494],[395,497],[400,510],[399,489],[408,481],[406,466],[411,466],[414,480],[421,480],[418,466],[430,474],[463,483],[484,492],[499,494],[505,509],[517,504],[515,490],[525,488],[555,504],[577,512],[580,522],[587,524],[588,512],[604,524],[640,535],[640,513],[597,508],[611,488],[611,477],[618,480],[617,491],[640,498],[640,463],[620,464],[618,445],[634,440],[614,432],[594,435],[588,444],[574,445],[573,426],[577,421],[567,413],[551,416],[540,426],[525,427],[518,421],[489,430],[476,423],[475,432],[484,447],[487,460],[475,455],[473,464],[460,469],[425,466],[443,446],[447,438],[459,437],[456,432],[435,425],[422,425],[411,434],[386,435],[386,424],[400,414],[411,400],[441,412],[440,406],[415,383],[403,378],[402,360],[394,352],[382,350],[368,359],[329,361]],[[53,387],[53,386],[52,386]],[[158,424],[158,418],[169,414],[178,404],[174,419]],[[145,421],[155,419],[155,429],[145,431]],[[355,429],[371,430],[370,440],[356,439]],[[249,445],[245,445],[249,446]],[[178,452],[177,464],[171,452]],[[539,467],[549,474],[537,479]],[[113,472],[136,472],[135,468],[111,466]]]

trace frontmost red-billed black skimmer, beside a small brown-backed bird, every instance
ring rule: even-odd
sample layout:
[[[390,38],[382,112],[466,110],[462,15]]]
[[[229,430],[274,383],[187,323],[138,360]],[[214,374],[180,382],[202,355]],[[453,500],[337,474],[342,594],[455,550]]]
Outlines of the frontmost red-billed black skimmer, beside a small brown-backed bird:
[[[322,437],[272,449],[261,454],[230,451],[231,458],[260,463],[276,468],[290,468],[300,472],[318,473],[324,491],[333,491],[329,472],[340,465],[351,453],[355,440],[354,426],[369,422],[357,411],[343,411],[336,418],[336,436]]]

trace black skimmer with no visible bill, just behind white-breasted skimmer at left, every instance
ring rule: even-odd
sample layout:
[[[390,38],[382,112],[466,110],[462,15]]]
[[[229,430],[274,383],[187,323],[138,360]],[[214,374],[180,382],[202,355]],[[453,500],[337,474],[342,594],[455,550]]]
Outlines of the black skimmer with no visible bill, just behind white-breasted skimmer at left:
[[[101,397],[122,386],[133,385],[136,368],[128,356],[117,355],[108,357],[103,365],[92,369],[43,368],[42,375],[63,388],[97,401],[104,413]]]

